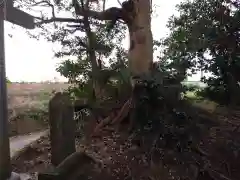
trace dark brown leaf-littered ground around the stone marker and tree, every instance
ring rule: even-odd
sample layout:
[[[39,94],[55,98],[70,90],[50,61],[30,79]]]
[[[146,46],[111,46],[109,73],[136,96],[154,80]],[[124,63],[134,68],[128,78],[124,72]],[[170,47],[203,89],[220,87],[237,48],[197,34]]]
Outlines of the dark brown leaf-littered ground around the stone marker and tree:
[[[190,151],[167,148],[166,137],[158,139],[160,146],[149,146],[147,140],[146,145],[140,145],[124,127],[116,132],[106,131],[100,137],[77,139],[78,151],[101,162],[101,167],[94,166],[85,175],[96,180],[99,177],[109,180],[239,180],[240,110],[220,108],[209,113],[194,108],[193,112],[201,118],[198,125],[204,133]],[[194,118],[193,114],[190,116]],[[150,139],[156,136],[151,134]],[[51,167],[50,158],[49,137],[46,136],[13,159],[13,169],[36,177],[36,172]]]

